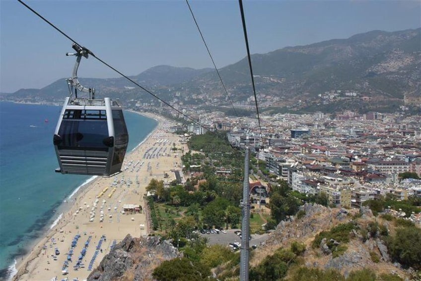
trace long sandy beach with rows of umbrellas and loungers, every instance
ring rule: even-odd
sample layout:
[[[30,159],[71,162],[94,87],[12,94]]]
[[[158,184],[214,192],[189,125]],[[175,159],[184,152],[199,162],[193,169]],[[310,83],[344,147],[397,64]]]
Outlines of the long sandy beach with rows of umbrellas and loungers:
[[[90,269],[96,268],[112,246],[127,234],[139,237],[148,233],[145,187],[151,179],[168,182],[175,179],[171,171],[181,170],[181,153],[172,150],[173,144],[177,148],[185,145],[176,134],[168,132],[171,121],[149,113],[144,115],[159,124],[141,145],[126,155],[122,173],[97,177],[67,200],[64,204],[71,205],[68,211],[18,261],[13,280],[85,280]],[[165,178],[165,174],[169,177]],[[135,209],[139,205],[140,212]],[[125,211],[124,206],[129,208]]]

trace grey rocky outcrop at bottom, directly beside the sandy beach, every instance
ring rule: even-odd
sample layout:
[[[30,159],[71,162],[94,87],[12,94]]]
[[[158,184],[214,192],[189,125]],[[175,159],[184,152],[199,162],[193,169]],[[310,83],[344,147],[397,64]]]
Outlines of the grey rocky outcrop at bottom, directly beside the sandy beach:
[[[158,236],[133,238],[127,235],[104,257],[87,280],[108,281],[123,277],[126,280],[152,280],[156,266],[180,256],[171,243]]]

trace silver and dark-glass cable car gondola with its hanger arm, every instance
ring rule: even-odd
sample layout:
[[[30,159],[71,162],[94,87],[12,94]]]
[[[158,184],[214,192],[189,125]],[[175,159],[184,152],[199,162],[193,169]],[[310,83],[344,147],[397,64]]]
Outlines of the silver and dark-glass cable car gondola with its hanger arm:
[[[60,165],[56,172],[110,176],[121,171],[129,142],[123,110],[116,100],[95,99],[94,89],[80,85],[77,68],[81,57],[88,58],[90,51],[77,44],[72,47],[76,53],[66,54],[76,56],[73,76],[68,79],[70,96],[53,137]],[[89,93],[89,98],[78,98],[77,91]]]

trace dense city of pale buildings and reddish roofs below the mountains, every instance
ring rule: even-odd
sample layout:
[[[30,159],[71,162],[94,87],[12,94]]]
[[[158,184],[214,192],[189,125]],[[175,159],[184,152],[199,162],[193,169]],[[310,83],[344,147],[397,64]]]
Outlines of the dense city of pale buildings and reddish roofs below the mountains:
[[[256,156],[271,174],[302,193],[324,191],[334,205],[361,207],[386,194],[401,200],[421,196],[421,116],[352,111],[334,117],[322,112],[276,114],[262,117],[263,137],[255,117],[203,111],[197,116],[204,126],[179,123],[172,130],[225,130],[237,147],[247,132],[252,143],[263,144]],[[404,173],[409,179],[400,177]],[[413,214],[411,220],[421,222],[421,217]]]

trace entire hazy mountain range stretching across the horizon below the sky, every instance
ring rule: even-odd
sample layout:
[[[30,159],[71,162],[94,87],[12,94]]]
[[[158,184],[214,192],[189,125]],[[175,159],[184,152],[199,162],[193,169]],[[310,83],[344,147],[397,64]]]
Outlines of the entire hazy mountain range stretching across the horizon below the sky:
[[[348,39],[285,47],[251,56],[256,93],[263,110],[325,112],[395,110],[421,104],[421,28],[370,31]],[[229,97],[213,69],[152,67],[130,78],[169,103],[247,108],[254,104],[247,58],[219,69]],[[125,78],[80,78],[97,96],[158,104]],[[42,89],[0,95],[14,101],[61,101],[65,79]],[[216,103],[215,103],[216,102]]]

